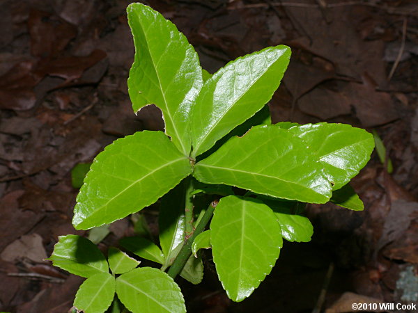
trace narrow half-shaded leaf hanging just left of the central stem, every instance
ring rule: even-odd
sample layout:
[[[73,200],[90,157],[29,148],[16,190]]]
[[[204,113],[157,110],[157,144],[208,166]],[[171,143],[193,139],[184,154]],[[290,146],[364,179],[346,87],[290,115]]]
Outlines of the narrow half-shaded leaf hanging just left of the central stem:
[[[185,188],[179,184],[164,195],[158,216],[160,246],[165,256],[164,266],[170,266],[183,246],[185,233]]]

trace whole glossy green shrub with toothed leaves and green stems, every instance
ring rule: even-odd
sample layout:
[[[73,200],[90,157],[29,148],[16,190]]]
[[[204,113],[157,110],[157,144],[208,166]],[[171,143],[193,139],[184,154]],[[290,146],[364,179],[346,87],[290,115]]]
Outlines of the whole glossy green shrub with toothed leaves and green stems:
[[[165,132],[139,131],[98,154],[72,223],[88,230],[161,198],[159,243],[139,236],[120,242],[160,268],[138,267],[118,248],[106,259],[75,235],[61,236],[50,259],[87,278],[78,310],[185,312],[174,278],[201,282],[199,249],[211,248],[226,294],[242,301],[270,273],[283,239],[311,239],[305,203],[363,209],[348,182],[369,160],[373,136],[325,122],[272,125],[266,104],[288,65],[286,46],[237,58],[211,75],[160,13],[132,3],[127,16],[136,49],[127,81],[133,110],[158,106]]]

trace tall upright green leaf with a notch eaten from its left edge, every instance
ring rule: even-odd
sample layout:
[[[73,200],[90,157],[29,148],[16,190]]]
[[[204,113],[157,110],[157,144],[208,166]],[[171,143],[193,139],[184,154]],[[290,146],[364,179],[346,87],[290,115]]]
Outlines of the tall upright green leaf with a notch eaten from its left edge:
[[[166,134],[189,155],[189,115],[203,85],[199,57],[176,26],[149,6],[132,3],[127,18],[135,58],[127,86],[135,112],[148,104],[163,114]]]

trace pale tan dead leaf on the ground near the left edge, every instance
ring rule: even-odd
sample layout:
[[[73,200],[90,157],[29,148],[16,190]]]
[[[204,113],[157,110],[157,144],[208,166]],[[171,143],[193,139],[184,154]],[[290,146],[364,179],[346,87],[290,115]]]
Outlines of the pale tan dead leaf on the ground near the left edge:
[[[0,254],[1,259],[8,262],[16,262],[20,259],[31,259],[33,262],[43,262],[47,258],[47,252],[38,234],[23,235],[13,241]]]

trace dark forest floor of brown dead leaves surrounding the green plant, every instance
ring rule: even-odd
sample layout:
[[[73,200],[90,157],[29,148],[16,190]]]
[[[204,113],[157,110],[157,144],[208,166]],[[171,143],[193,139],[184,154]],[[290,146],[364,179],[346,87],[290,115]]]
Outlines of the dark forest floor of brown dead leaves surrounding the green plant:
[[[118,137],[164,127],[153,106],[132,113],[129,3],[0,3],[0,311],[71,309],[82,279],[43,259],[58,236],[88,235],[71,225],[72,168]],[[226,297],[209,253],[199,287],[179,279],[189,312],[337,313],[351,303],[417,303],[417,2],[144,3],[185,33],[212,73],[263,47],[290,46],[291,64],[270,102],[273,121],[348,123],[375,131],[386,147],[385,164],[373,152],[353,179],[364,211],[310,205],[311,243],[285,244],[272,274],[242,303]],[[156,233],[154,211],[142,212]],[[133,233],[125,218],[99,247]]]

